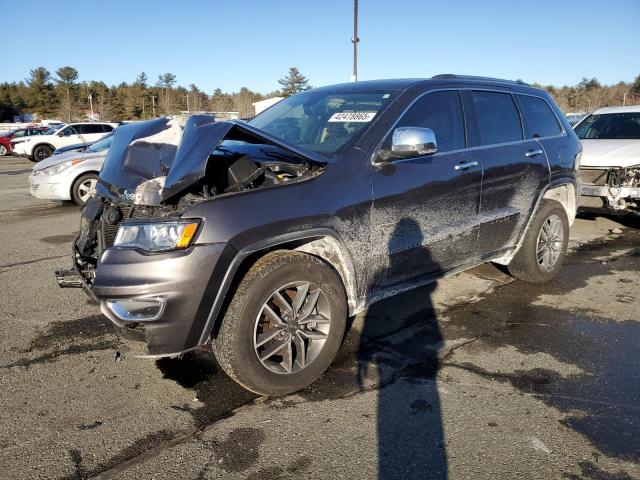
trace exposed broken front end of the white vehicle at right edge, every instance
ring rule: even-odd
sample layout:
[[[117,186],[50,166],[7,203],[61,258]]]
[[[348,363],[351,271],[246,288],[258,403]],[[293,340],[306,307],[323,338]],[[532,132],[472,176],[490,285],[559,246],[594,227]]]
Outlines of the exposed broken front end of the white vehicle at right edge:
[[[640,210],[640,167],[582,168],[581,205]]]

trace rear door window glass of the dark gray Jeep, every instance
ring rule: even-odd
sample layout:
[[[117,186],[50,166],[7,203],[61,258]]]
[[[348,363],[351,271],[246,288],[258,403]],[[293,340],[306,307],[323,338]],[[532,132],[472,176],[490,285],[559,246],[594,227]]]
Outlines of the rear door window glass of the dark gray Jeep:
[[[482,145],[522,140],[520,114],[508,93],[473,92]]]

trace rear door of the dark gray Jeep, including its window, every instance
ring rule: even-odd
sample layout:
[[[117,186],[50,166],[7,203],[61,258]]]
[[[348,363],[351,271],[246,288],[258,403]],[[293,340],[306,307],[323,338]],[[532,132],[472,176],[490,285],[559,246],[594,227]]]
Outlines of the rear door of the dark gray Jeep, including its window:
[[[491,256],[517,245],[549,182],[549,165],[540,144],[524,138],[510,92],[478,89],[465,95],[475,112],[474,137],[483,165],[479,248]]]

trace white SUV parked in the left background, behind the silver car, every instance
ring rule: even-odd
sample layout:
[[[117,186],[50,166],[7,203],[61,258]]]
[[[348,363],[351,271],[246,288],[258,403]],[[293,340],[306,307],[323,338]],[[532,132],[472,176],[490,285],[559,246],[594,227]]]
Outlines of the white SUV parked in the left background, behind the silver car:
[[[15,154],[29,157],[34,162],[39,162],[53,154],[53,151],[65,145],[76,143],[90,143],[100,139],[105,133],[111,132],[118,126],[117,123],[82,122],[64,125],[54,133],[29,138],[16,144],[13,148]],[[54,127],[55,128],[55,127]]]

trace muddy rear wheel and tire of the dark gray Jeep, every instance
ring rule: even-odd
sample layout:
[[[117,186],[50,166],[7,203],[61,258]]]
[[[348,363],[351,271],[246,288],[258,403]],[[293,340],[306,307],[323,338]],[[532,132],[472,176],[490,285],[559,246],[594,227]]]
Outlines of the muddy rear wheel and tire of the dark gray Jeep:
[[[568,243],[567,212],[560,203],[543,199],[507,267],[509,273],[526,282],[548,282],[560,271]]]

